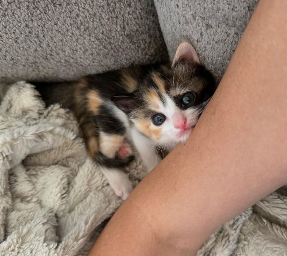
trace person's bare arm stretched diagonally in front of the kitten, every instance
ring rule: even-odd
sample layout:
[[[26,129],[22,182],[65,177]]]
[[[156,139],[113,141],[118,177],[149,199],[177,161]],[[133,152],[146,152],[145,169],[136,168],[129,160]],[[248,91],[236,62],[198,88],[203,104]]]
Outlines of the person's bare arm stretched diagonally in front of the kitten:
[[[134,189],[89,256],[196,255],[287,182],[287,1],[261,0],[188,141]]]

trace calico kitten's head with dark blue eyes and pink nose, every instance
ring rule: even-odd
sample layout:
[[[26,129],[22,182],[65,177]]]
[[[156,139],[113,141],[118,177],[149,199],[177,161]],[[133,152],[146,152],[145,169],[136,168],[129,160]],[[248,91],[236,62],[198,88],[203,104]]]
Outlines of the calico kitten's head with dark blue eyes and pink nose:
[[[214,91],[213,76],[192,45],[183,42],[172,65],[152,70],[139,90],[124,98],[122,109],[141,133],[174,145],[187,140]]]

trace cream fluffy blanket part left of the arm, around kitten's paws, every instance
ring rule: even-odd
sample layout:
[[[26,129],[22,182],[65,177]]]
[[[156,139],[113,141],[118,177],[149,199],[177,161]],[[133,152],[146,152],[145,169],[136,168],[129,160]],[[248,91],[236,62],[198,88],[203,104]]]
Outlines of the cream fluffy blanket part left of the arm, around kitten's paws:
[[[129,166],[141,179],[141,160]],[[119,207],[73,115],[14,84],[0,107],[0,255],[87,255]]]

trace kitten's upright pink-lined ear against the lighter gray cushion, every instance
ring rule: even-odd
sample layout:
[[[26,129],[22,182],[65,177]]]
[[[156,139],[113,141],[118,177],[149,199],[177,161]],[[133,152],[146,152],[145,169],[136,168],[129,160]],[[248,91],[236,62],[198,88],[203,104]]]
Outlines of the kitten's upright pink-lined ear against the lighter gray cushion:
[[[176,50],[175,57],[172,61],[172,66],[179,62],[188,62],[191,65],[199,65],[200,61],[196,50],[187,41],[183,41]]]

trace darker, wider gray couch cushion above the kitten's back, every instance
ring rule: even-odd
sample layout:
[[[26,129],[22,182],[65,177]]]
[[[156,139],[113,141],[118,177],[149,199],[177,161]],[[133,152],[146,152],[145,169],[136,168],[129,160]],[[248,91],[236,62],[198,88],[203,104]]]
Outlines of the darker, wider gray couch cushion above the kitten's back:
[[[167,58],[152,0],[4,0],[0,21],[0,81],[71,80]]]

